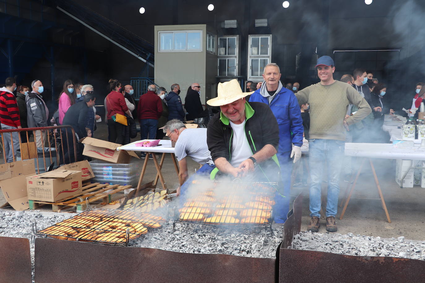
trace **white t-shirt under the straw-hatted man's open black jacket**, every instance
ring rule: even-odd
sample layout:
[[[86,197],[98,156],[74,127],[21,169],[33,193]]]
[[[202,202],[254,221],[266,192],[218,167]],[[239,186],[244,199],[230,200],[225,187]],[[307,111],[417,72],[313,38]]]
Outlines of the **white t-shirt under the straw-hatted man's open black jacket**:
[[[245,121],[238,125],[232,121],[229,122],[233,130],[232,156],[230,157],[230,164],[237,168],[241,165],[242,161],[252,155],[252,151],[249,147],[248,140],[246,139]]]

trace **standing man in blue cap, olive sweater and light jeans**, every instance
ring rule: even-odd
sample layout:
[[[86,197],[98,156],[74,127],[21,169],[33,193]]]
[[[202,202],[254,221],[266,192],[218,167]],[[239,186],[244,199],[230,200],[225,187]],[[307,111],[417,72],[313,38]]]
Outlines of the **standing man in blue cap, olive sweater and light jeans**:
[[[340,192],[340,169],[344,159],[346,130],[360,122],[371,108],[367,101],[353,87],[342,81],[335,81],[334,60],[329,56],[317,59],[317,75],[320,82],[312,84],[295,95],[300,104],[310,105],[310,216],[308,230],[317,232],[320,227],[320,196],[323,166],[326,160],[328,173],[328,200],[326,204],[326,230],[336,232],[338,195]],[[348,104],[357,106],[356,114],[345,118]]]

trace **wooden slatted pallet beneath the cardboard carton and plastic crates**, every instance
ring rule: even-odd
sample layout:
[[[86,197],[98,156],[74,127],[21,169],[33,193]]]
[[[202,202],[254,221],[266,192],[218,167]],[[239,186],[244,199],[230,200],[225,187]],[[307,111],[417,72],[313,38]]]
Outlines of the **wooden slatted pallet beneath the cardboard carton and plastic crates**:
[[[131,188],[131,185],[109,185],[100,183],[85,183],[83,184],[83,192],[68,196],[65,199],[60,199],[56,202],[42,202],[36,200],[28,200],[30,209],[37,209],[41,205],[52,205],[54,212],[60,212],[61,210],[69,207],[77,207],[77,211],[87,210],[86,198],[88,198],[89,204],[93,204],[99,200],[101,202],[110,203],[112,201],[112,195],[124,191],[125,189]],[[112,190],[110,192],[105,192]]]

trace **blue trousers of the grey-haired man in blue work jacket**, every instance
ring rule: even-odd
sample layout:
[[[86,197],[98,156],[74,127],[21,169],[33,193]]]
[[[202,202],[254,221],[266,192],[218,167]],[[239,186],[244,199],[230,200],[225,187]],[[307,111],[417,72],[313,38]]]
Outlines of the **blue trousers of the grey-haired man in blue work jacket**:
[[[291,199],[291,174],[292,174],[292,159],[291,151],[278,153],[277,157],[280,165],[280,175],[282,177],[279,191],[275,193],[275,202],[273,206],[274,220],[276,223],[284,223],[289,211],[289,201]]]

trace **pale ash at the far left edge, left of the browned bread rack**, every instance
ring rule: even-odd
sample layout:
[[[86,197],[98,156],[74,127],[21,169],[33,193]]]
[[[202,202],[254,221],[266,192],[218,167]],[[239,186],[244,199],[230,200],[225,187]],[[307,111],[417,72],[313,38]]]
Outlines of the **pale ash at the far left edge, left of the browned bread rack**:
[[[50,227],[60,221],[64,221],[75,213],[46,213],[35,210],[27,211],[10,211],[0,210],[0,236],[27,238],[31,240],[32,223],[37,223],[37,230]],[[34,242],[30,241],[32,280],[34,281]]]

